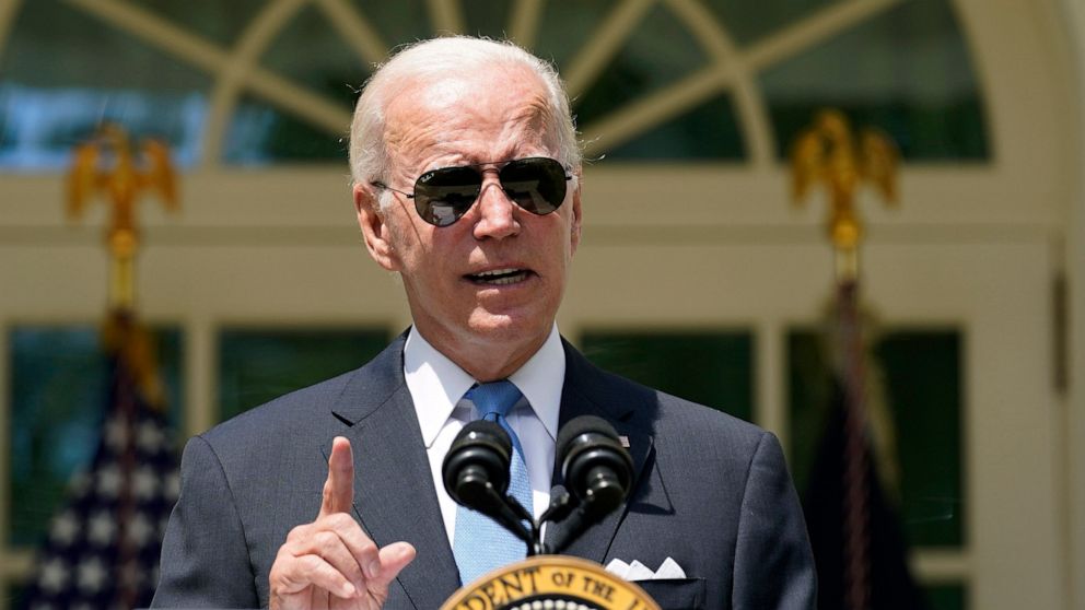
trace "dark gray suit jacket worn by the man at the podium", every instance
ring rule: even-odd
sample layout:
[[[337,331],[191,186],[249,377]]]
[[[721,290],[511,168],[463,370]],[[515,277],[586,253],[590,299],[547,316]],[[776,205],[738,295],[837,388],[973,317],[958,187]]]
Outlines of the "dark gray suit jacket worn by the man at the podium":
[[[266,607],[279,546],[319,509],[337,435],[354,449],[362,528],[380,546],[406,540],[418,549],[385,607],[436,609],[459,587],[402,348],[400,337],[358,371],[188,442],[154,607]],[[629,437],[637,473],[629,502],[567,554],[639,560],[652,570],[674,558],[688,578],[641,583],[663,608],[813,608],[814,561],[775,437],[564,349],[561,424],[581,414],[610,421]]]

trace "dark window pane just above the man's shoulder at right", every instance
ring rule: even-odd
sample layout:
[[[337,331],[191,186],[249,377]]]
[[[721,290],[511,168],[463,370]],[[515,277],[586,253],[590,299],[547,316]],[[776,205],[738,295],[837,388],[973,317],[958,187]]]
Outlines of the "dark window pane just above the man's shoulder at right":
[[[754,347],[748,331],[586,331],[580,345],[598,366],[749,421]]]

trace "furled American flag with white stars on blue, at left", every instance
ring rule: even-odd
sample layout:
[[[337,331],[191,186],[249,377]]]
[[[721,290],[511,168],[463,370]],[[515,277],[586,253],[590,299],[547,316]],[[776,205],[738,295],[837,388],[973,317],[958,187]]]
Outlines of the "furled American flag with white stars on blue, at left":
[[[114,317],[107,414],[91,468],[52,518],[24,596],[27,610],[147,607],[179,485],[144,331]]]

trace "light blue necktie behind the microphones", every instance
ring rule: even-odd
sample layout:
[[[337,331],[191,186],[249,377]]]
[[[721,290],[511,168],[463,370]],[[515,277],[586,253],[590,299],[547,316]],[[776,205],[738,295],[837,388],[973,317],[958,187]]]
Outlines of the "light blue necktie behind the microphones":
[[[472,387],[464,396],[475,404],[481,419],[497,422],[512,437],[513,455],[509,473],[509,493],[532,512],[532,484],[520,438],[509,425],[509,411],[521,394],[512,382],[495,382]],[[481,513],[464,506],[456,509],[456,533],[453,554],[459,567],[459,579],[469,584],[479,576],[527,556],[524,541]]]

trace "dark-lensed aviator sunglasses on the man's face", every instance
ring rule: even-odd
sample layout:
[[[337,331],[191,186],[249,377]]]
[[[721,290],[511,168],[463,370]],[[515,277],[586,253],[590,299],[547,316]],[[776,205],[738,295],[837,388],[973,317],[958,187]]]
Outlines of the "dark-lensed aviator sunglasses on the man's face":
[[[498,169],[501,189],[528,212],[549,214],[565,200],[565,183],[572,176],[556,160],[545,156],[431,169],[415,181],[415,192],[404,192],[381,181],[370,184],[413,199],[415,210],[422,220],[434,226],[448,226],[471,209],[482,191],[482,166],[501,164],[504,164]]]

